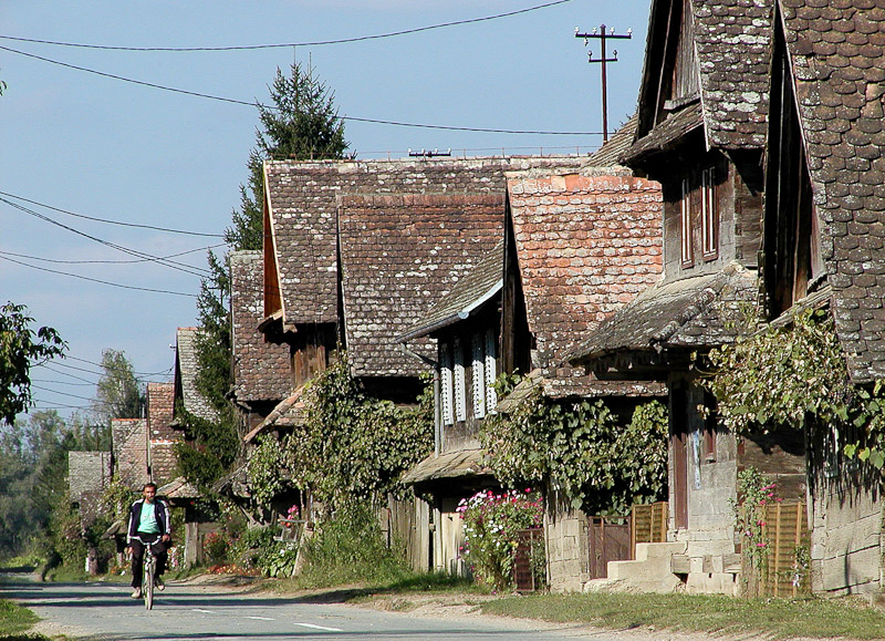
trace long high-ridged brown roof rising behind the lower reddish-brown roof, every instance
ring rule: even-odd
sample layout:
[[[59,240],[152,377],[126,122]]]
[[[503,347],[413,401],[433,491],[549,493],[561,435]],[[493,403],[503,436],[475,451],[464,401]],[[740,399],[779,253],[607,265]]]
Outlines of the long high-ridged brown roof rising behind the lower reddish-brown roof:
[[[345,194],[504,190],[504,172],[579,166],[586,158],[488,157],[264,163],[273,256],[285,325],[337,320],[336,209]]]

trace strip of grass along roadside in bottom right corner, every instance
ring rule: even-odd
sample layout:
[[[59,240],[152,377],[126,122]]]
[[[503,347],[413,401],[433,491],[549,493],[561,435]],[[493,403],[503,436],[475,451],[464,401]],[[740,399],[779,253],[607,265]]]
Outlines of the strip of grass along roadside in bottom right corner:
[[[482,611],[610,629],[670,629],[718,634],[882,639],[885,613],[852,600],[736,599],[716,595],[539,595],[487,602]]]

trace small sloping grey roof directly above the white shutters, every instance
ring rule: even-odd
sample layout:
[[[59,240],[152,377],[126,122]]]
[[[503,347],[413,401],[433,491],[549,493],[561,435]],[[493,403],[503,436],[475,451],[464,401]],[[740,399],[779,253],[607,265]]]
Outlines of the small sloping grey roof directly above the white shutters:
[[[501,291],[503,285],[504,245],[499,242],[459,279],[451,291],[439,299],[426,313],[418,317],[412,327],[397,337],[397,341],[424,337],[436,330],[469,318]]]

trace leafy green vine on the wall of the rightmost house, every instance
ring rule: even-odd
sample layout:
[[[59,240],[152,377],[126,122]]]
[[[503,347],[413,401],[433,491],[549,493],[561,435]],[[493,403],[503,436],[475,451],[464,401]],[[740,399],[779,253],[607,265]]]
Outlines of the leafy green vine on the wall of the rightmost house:
[[[850,425],[862,436],[844,453],[883,468],[883,382],[872,389],[852,384],[829,312],[804,310],[790,324],[751,325],[736,342],[711,350],[707,365],[712,372],[701,382],[717,399],[719,420],[735,433]]]

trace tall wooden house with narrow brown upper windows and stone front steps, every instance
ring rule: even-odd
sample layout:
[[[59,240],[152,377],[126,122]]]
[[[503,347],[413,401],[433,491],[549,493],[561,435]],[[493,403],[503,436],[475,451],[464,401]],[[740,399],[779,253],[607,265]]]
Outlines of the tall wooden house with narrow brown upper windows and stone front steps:
[[[772,0],[653,2],[638,127],[622,159],[662,184],[664,279],[572,352],[600,378],[667,383],[670,562],[655,589],[738,590],[740,467],[768,473],[784,498],[805,494],[801,435],[739,444],[693,368],[759,313],[772,12]]]

